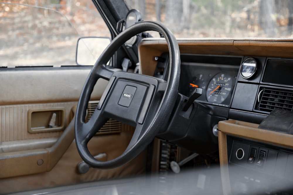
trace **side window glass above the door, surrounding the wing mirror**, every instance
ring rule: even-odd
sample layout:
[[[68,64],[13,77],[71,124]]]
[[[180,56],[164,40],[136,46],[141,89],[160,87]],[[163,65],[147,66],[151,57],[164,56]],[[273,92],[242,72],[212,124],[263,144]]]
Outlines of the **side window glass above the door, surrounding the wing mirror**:
[[[1,67],[76,65],[79,37],[110,37],[91,0],[9,2],[0,4]]]

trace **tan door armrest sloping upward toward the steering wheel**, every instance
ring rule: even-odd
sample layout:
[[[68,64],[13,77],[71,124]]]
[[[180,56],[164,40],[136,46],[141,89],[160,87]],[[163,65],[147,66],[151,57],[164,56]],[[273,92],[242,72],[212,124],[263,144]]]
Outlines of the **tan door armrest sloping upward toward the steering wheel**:
[[[72,109],[75,112],[76,107]],[[74,139],[74,120],[50,148],[0,153],[0,178],[52,170]]]

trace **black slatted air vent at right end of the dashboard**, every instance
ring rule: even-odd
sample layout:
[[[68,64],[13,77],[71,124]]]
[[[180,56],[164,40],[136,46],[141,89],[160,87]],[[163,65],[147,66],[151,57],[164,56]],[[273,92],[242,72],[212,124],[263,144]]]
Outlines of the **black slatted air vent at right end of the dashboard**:
[[[271,112],[274,108],[293,110],[293,91],[282,89],[264,89],[259,94],[260,111]]]

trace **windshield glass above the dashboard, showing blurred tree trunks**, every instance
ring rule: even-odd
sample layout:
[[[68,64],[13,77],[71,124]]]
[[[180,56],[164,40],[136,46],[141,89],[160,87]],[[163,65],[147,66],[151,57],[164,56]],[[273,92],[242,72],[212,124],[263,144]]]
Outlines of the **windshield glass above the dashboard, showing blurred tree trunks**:
[[[291,0],[125,0],[176,38],[290,38]]]

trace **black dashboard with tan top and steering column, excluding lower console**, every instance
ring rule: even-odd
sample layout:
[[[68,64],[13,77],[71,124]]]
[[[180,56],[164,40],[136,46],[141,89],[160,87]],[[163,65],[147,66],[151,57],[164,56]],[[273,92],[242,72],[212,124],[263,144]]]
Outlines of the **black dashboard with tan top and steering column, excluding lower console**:
[[[293,42],[269,40],[178,40],[178,100],[158,137],[197,153],[218,150],[219,121],[260,124],[272,110],[292,111]],[[148,38],[139,46],[142,74],[167,80],[168,47]],[[194,89],[202,94],[183,112]]]

